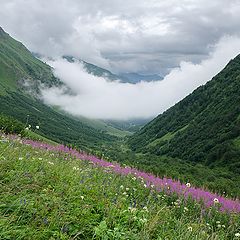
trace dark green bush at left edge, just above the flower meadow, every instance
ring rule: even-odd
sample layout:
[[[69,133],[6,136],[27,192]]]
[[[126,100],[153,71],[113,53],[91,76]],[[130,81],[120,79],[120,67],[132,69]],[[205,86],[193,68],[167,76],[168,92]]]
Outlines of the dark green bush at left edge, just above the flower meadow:
[[[4,133],[11,134],[23,134],[24,133],[24,125],[23,123],[17,121],[16,119],[6,116],[0,115],[0,131]]]

